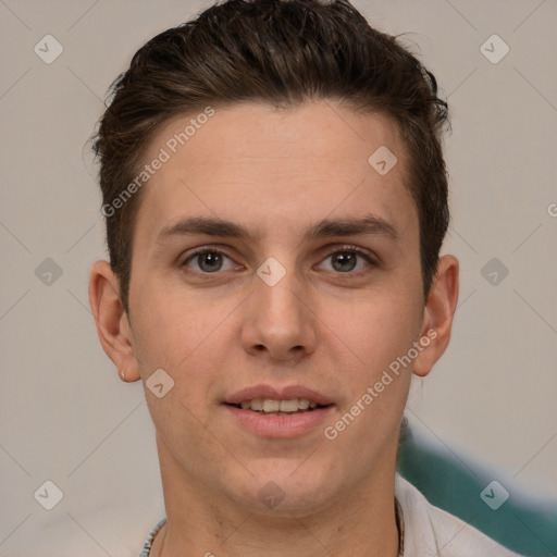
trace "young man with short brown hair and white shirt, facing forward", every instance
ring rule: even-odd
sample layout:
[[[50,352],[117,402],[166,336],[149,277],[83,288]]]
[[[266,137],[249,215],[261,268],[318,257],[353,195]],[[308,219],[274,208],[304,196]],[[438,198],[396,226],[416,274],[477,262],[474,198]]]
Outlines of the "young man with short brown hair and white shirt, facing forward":
[[[89,298],[156,425],[141,555],[515,555],[396,474],[458,298],[433,75],[347,1],[231,0],[113,94]]]

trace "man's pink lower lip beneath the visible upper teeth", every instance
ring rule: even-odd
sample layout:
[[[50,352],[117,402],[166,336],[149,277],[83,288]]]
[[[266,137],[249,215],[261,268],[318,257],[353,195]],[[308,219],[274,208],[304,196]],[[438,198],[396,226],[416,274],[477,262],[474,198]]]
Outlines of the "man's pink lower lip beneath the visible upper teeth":
[[[224,405],[224,407],[250,433],[262,437],[295,437],[323,423],[333,411],[334,405],[292,416],[265,416],[232,405]]]

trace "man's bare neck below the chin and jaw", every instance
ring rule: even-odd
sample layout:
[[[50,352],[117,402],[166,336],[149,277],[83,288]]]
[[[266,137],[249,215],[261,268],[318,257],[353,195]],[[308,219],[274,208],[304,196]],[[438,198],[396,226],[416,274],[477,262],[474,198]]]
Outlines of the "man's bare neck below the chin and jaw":
[[[396,557],[395,465],[333,497],[327,505],[272,513],[239,508],[210,487],[199,487],[158,441],[166,523],[151,557]],[[396,458],[396,453],[395,453]]]

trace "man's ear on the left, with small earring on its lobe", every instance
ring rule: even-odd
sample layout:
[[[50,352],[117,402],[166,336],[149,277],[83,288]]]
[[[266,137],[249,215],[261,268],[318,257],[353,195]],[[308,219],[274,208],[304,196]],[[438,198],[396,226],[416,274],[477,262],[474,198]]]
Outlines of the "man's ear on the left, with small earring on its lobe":
[[[92,265],[89,304],[100,344],[116,366],[120,376],[126,382],[139,380],[132,329],[120,299],[119,280],[107,261],[97,261]]]

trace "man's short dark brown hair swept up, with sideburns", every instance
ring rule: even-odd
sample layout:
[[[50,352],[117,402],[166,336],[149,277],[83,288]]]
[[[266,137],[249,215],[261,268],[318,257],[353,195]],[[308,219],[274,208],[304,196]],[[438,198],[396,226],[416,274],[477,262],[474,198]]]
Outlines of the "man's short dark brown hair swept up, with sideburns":
[[[347,0],[215,3],[143,46],[110,91],[94,137],[103,207],[137,176],[150,139],[164,123],[208,104],[262,101],[288,108],[333,100],[391,116],[407,149],[406,182],[418,209],[426,298],[449,221],[441,147],[447,104],[437,98],[433,74]],[[140,199],[138,191],[110,216],[103,213],[126,312]]]

